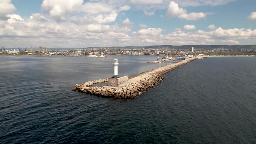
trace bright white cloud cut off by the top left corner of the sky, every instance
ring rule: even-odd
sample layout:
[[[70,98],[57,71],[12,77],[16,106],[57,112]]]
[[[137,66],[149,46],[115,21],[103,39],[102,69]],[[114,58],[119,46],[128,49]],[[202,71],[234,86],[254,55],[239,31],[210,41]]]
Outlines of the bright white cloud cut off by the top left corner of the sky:
[[[11,0],[0,0],[0,20],[6,19],[6,15],[13,14],[15,10]]]

